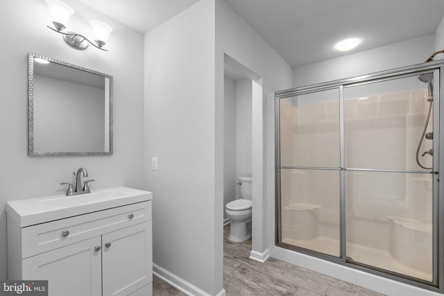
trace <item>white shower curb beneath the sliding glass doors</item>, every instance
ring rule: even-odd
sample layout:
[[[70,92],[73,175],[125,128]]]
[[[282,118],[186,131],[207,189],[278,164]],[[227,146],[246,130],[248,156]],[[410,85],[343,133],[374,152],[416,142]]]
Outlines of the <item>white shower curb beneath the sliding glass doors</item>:
[[[309,270],[328,275],[336,279],[348,281],[351,284],[375,290],[378,293],[391,296],[443,296],[430,290],[418,288],[400,281],[393,281],[385,277],[372,275],[368,272],[348,268],[347,266],[318,259],[298,252],[283,249],[282,247],[273,247],[271,256],[275,259],[286,261]]]

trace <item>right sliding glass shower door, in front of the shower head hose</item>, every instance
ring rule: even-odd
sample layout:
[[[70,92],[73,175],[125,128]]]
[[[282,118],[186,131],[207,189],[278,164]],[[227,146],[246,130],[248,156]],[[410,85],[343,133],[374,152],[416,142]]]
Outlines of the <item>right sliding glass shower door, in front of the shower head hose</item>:
[[[433,79],[420,77],[344,87],[346,252],[432,281]]]

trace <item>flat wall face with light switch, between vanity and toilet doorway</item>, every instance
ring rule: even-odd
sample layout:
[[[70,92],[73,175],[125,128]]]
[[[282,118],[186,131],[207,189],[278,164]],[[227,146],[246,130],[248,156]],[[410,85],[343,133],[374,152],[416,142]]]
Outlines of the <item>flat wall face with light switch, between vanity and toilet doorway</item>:
[[[214,38],[214,0],[199,1],[145,35],[154,270],[210,295],[223,288],[223,196],[214,198]],[[158,157],[158,171],[151,171],[151,157]],[[219,173],[223,178],[223,166]]]

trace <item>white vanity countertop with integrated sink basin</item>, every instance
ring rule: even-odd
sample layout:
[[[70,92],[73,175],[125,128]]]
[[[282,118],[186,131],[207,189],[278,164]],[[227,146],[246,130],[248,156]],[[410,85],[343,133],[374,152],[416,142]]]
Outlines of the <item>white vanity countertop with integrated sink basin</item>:
[[[6,211],[20,227],[26,227],[152,199],[149,191],[121,186],[81,195],[12,200],[6,203]]]

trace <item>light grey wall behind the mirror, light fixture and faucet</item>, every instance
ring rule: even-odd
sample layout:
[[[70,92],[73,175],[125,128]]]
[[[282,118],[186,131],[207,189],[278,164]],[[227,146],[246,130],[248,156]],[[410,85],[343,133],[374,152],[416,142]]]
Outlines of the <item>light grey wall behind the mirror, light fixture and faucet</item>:
[[[42,1],[15,0],[2,4],[0,34],[0,279],[6,279],[6,201],[63,194],[60,182],[85,166],[96,182],[92,190],[109,186],[143,189],[143,35],[130,30],[74,0],[69,28],[89,34],[89,19],[101,19],[112,28],[108,52],[77,51],[46,28],[49,13]],[[13,29],[12,29],[13,26]],[[6,41],[7,40],[7,41]],[[28,51],[114,76],[114,155],[89,157],[29,157]]]

